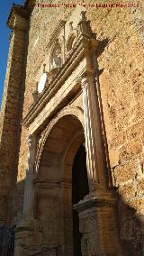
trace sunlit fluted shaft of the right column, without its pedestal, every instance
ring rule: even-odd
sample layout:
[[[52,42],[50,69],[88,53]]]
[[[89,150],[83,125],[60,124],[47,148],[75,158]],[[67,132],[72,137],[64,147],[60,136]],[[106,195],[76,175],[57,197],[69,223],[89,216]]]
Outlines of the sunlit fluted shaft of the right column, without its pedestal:
[[[98,107],[98,96],[94,83],[82,79],[83,106],[85,123],[85,150],[87,175],[90,192],[106,189],[108,173],[104,162],[101,116]]]

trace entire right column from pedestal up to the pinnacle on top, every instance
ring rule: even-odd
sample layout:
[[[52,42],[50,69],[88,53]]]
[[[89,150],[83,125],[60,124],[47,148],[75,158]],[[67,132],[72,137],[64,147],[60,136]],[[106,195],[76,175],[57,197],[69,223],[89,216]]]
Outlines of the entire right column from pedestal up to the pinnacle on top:
[[[79,213],[79,229],[82,235],[83,256],[122,255],[116,222],[116,194],[112,189],[107,161],[106,138],[103,123],[103,107],[98,83],[96,40],[85,12],[79,23],[83,41],[86,69],[83,87],[85,123],[85,151],[89,195],[74,209]],[[111,186],[110,186],[111,185]]]

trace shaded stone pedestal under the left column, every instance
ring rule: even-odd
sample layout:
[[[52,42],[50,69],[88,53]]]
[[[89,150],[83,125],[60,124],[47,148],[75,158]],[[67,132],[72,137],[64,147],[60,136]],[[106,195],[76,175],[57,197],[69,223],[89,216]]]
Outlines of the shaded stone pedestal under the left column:
[[[34,220],[23,221],[15,229],[14,256],[32,255],[40,251],[41,233]]]

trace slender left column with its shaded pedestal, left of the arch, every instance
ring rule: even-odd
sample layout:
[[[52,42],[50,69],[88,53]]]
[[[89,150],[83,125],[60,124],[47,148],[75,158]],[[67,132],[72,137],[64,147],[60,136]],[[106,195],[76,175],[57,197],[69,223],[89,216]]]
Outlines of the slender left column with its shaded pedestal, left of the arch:
[[[26,170],[24,200],[23,200],[23,221],[16,227],[15,230],[15,250],[14,255],[24,256],[29,255],[39,249],[41,245],[41,234],[38,231],[37,222],[34,219],[34,164],[36,156],[36,136],[30,135],[28,137],[29,153],[28,165]],[[23,249],[24,248],[24,249]]]

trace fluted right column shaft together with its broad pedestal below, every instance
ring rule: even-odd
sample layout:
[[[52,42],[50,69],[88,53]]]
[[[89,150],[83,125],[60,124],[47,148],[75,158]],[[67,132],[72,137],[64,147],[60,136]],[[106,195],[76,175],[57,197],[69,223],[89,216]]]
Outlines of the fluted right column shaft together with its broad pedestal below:
[[[83,233],[83,256],[122,255],[116,222],[116,195],[108,189],[102,120],[94,79],[83,78],[85,151],[90,193],[74,209]]]

